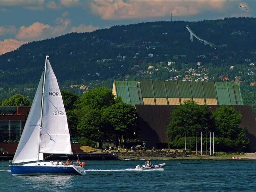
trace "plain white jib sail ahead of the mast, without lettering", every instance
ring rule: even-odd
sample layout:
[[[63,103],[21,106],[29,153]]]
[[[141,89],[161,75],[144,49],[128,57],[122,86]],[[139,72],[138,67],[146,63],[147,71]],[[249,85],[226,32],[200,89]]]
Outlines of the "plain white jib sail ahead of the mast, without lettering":
[[[44,73],[43,73],[44,74]],[[24,126],[24,130],[20,137],[19,145],[16,149],[12,163],[22,163],[29,161],[36,161],[38,158],[38,133],[40,131],[40,114],[41,114],[41,102],[42,102],[42,86],[43,86],[43,74],[39,81],[36,95],[34,97],[32,106],[30,108],[28,119]],[[39,156],[39,160],[42,160],[43,156]]]

